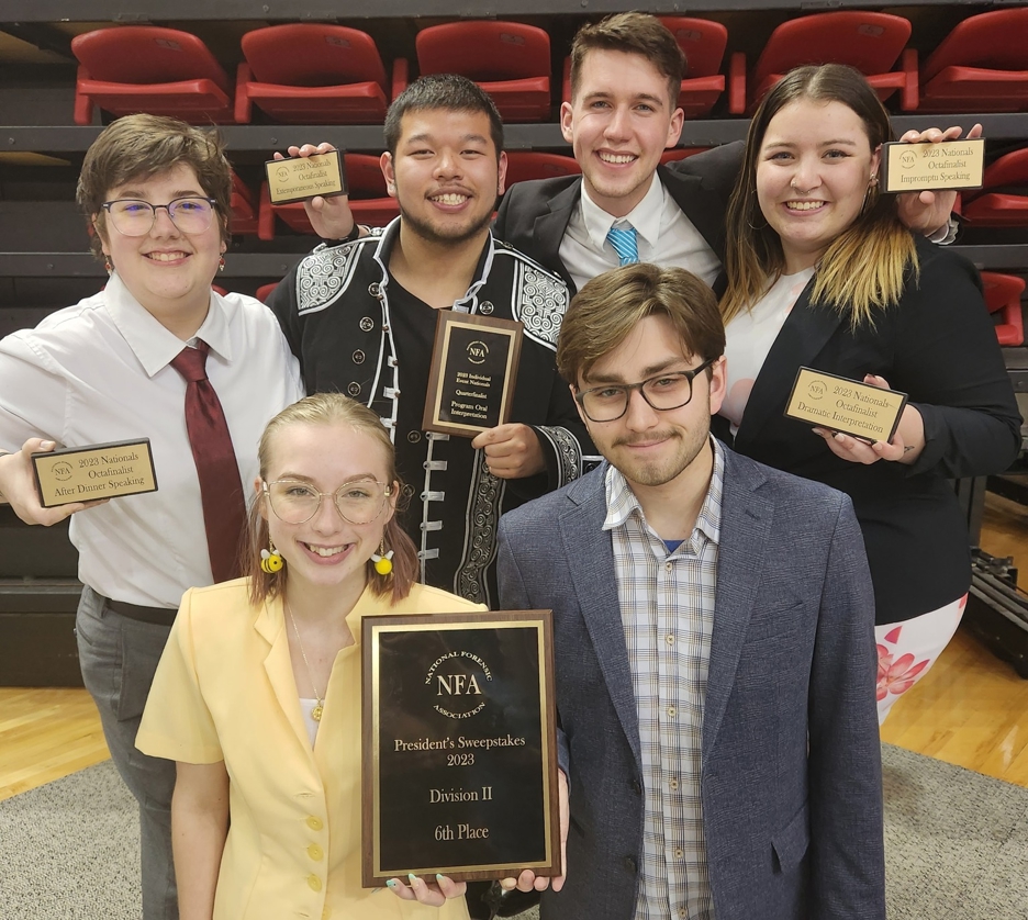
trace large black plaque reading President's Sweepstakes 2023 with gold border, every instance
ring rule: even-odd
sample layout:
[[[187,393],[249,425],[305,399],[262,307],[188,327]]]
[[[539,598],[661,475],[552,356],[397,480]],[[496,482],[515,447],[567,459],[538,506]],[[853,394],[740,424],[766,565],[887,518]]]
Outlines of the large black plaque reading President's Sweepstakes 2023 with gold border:
[[[549,610],[361,622],[361,884],[560,875]]]

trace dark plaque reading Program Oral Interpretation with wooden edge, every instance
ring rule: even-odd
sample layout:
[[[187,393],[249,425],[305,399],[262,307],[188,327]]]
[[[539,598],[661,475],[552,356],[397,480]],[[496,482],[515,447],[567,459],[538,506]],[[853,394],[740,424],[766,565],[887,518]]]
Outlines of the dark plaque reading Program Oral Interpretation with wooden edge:
[[[521,345],[521,323],[440,310],[422,427],[473,438],[509,422]]]

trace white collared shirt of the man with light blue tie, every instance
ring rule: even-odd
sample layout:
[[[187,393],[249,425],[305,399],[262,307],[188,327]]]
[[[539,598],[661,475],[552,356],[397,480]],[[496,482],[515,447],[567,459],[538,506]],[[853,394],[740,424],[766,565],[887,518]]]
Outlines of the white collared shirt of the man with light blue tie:
[[[617,253],[606,236],[615,223],[623,227],[625,222],[638,234],[640,262],[678,266],[707,284],[714,283],[720,272],[720,261],[669,194],[660,177],[653,173],[642,200],[624,217],[607,214],[589,197],[582,182],[582,194],[571,212],[558,250],[577,290],[582,290],[582,285],[597,274],[617,268]]]

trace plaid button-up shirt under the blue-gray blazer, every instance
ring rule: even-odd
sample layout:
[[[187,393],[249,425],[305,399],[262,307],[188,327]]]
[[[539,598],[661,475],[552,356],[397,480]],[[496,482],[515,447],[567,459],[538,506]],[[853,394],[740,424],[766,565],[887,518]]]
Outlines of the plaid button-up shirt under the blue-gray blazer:
[[[642,865],[635,920],[714,920],[700,799],[725,458],[695,527],[674,550],[653,532],[613,467],[607,516],[617,597],[632,665],[645,787]]]

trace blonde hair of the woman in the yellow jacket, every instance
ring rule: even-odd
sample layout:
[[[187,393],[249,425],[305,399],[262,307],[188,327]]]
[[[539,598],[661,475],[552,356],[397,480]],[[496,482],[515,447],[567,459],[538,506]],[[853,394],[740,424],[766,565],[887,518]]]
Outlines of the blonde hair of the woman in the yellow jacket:
[[[315,393],[313,396],[306,396],[283,408],[268,423],[257,447],[260,478],[266,482],[275,438],[290,425],[347,425],[355,431],[369,435],[381,445],[386,453],[387,479],[402,498],[403,483],[396,475],[396,453],[389,439],[389,433],[377,413],[342,393]],[[244,571],[250,580],[250,601],[255,605],[262,604],[266,598],[276,597],[286,590],[289,568],[283,565],[273,574],[268,574],[260,568],[260,551],[268,548],[269,540],[268,521],[260,514],[261,502],[264,502],[264,495],[258,494],[250,505],[249,527],[247,528],[248,547],[243,560]],[[417,550],[400,526],[399,513],[401,511],[398,500],[396,512],[386,525],[386,548],[393,551],[392,574],[380,575],[375,571],[373,565],[368,565],[368,584],[371,590],[378,595],[392,592],[394,603],[411,593],[411,585],[417,576]]]

